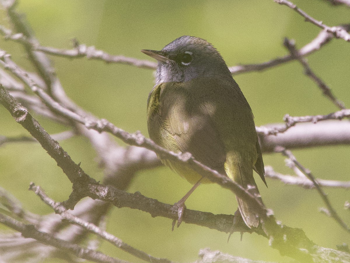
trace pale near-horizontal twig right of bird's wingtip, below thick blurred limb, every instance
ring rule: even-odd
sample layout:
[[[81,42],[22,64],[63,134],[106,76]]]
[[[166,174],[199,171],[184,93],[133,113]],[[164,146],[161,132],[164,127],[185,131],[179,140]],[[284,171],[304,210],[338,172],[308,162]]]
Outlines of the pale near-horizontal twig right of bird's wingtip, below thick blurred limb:
[[[277,173],[273,170],[271,166],[265,166],[265,177],[271,179],[280,180],[282,183],[301,186],[305,189],[315,188],[315,185],[308,178],[302,178],[300,176],[292,176],[292,175],[284,175]],[[323,179],[315,179],[315,181],[324,187],[335,187],[335,188],[350,188],[350,181],[342,182],[342,181],[334,181],[334,180],[323,180]]]

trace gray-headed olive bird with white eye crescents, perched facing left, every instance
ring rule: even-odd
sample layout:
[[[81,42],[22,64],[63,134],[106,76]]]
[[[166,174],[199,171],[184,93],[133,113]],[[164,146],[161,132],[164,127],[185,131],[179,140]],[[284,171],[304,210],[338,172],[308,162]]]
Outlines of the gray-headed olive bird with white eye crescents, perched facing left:
[[[184,35],[160,51],[141,52],[158,61],[156,83],[147,101],[150,139],[169,151],[189,152],[262,203],[253,170],[267,184],[253,113],[217,49],[202,38]],[[210,181],[180,162],[160,160],[194,184],[175,203],[179,226],[186,209],[184,201],[198,185]],[[261,217],[256,208],[238,196],[236,199],[244,223],[258,227]]]

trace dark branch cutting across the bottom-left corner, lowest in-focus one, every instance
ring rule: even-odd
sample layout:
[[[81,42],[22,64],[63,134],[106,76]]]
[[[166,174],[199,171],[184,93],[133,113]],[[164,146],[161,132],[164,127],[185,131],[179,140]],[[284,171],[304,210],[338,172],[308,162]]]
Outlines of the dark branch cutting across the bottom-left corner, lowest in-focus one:
[[[126,263],[126,261],[122,261],[119,259],[106,256],[101,252],[97,252],[92,249],[82,248],[76,244],[68,243],[66,240],[52,237],[49,234],[38,231],[34,225],[23,224],[1,213],[0,213],[0,223],[18,232],[21,232],[24,237],[34,238],[43,244],[47,244],[47,245],[62,249],[64,251],[69,251],[79,258],[91,260],[93,262],[101,262],[101,263]]]

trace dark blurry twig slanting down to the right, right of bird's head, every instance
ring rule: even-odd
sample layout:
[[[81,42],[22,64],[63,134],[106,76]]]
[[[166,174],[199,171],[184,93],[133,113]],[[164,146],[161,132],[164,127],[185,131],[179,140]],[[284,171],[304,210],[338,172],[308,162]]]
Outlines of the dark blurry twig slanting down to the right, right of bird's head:
[[[289,40],[285,38],[283,41],[283,45],[288,48],[290,54],[295,57],[301,65],[304,67],[305,74],[310,77],[313,81],[316,82],[317,86],[323,91],[323,94],[327,96],[339,109],[345,109],[344,102],[338,100],[331,92],[331,89],[325,84],[320,77],[316,76],[316,74],[311,70],[308,62],[304,59],[296,50],[295,42],[293,40]]]

